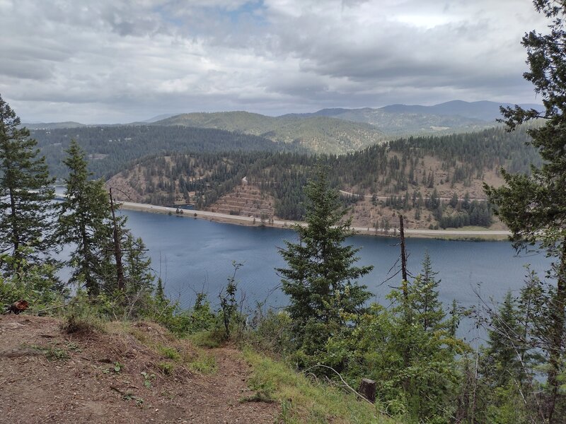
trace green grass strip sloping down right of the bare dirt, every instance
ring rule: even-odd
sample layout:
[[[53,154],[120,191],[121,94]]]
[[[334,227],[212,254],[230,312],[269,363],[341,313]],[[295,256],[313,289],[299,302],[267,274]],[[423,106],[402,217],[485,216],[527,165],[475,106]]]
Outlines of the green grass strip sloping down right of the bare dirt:
[[[287,365],[260,353],[246,350],[243,355],[252,366],[248,380],[250,389],[258,392],[258,398],[279,401],[282,407],[279,421],[282,423],[400,423],[380,413],[376,406],[360,401],[354,394],[327,384],[315,384]]]

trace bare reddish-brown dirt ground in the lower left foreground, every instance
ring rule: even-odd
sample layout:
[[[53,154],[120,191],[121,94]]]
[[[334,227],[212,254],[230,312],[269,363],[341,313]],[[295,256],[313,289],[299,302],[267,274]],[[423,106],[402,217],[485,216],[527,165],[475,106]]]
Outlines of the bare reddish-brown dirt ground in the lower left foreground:
[[[248,365],[217,348],[217,371],[159,372],[163,357],[129,334],[67,334],[49,317],[0,316],[0,423],[273,423],[277,404],[241,402]],[[136,327],[141,338],[163,329]],[[115,370],[116,363],[119,370]],[[146,387],[147,372],[151,387]]]

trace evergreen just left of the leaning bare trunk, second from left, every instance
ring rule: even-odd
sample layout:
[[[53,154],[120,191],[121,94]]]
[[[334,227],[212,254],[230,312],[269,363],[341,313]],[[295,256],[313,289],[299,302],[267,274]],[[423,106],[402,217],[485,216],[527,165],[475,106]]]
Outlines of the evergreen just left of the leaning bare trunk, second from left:
[[[112,276],[108,194],[102,180],[88,180],[85,154],[76,141],[71,141],[67,154],[64,164],[69,167],[69,176],[60,204],[59,236],[62,242],[76,245],[69,259],[74,268],[71,281],[84,284],[91,295],[96,295]]]

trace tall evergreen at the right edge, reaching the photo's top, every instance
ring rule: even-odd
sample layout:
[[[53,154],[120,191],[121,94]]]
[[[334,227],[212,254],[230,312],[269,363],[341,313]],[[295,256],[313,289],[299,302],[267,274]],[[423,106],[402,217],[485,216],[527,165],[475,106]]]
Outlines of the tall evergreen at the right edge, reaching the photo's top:
[[[550,33],[531,31],[523,37],[530,70],[524,78],[531,81],[541,95],[545,110],[502,108],[509,129],[542,117],[545,124],[531,128],[531,144],[538,149],[544,163],[532,167],[531,175],[509,174],[502,170],[503,187],[485,187],[497,215],[512,231],[517,248],[542,243],[555,258],[551,273],[556,281],[550,298],[548,343],[549,423],[558,423],[556,412],[560,401],[560,375],[565,371],[566,354],[566,4],[564,1],[535,0],[539,13],[550,20]]]

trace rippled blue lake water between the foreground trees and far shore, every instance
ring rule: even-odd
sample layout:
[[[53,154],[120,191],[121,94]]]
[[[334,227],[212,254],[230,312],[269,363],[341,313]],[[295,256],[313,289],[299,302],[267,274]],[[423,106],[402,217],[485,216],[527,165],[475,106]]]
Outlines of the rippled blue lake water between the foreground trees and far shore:
[[[233,274],[232,262],[243,264],[236,273],[238,291],[246,295],[250,307],[255,301],[282,306],[287,298],[278,289],[275,268],[285,263],[278,253],[284,240],[296,241],[294,232],[280,228],[260,228],[214,223],[156,213],[124,211],[127,226],[144,239],[152,266],[166,284],[166,293],[190,307],[195,293],[206,292],[214,304],[227,278]],[[391,278],[398,266],[398,240],[392,237],[355,236],[349,239],[361,247],[358,264],[373,265],[374,271],[360,281],[368,286],[375,300],[387,302],[385,295],[398,286],[400,275]],[[441,278],[440,298],[448,307],[453,299],[463,306],[483,300],[501,300],[507,290],[515,293],[524,282],[524,266],[541,272],[548,269],[543,254],[517,257],[509,242],[466,242],[407,239],[408,269],[417,275],[424,252],[429,252],[434,271]],[[393,270],[390,269],[393,267]],[[386,282],[385,282],[386,281]]]

